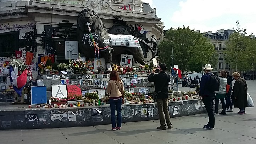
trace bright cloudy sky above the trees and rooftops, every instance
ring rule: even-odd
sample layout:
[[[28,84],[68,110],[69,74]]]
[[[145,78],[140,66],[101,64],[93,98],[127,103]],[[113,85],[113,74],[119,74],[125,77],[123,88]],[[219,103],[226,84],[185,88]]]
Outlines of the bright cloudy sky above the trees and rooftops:
[[[232,29],[239,20],[247,34],[256,34],[255,0],[142,0],[156,8],[156,15],[166,26],[217,32]]]

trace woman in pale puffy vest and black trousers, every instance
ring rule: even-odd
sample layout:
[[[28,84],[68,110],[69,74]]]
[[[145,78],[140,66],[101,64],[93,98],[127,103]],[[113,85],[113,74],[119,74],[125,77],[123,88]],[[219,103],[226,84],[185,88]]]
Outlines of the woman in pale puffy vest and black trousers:
[[[226,71],[222,70],[221,71],[221,77],[220,79],[220,84],[219,84],[219,91],[216,92],[215,95],[215,115],[226,115],[226,103],[224,101],[224,98],[226,96],[227,90],[227,73]],[[221,100],[221,105],[222,105],[222,112],[219,113],[219,100]]]

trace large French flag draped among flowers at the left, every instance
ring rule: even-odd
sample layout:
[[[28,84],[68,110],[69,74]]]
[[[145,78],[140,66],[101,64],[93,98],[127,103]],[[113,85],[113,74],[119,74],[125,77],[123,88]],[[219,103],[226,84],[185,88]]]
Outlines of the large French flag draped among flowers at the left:
[[[20,76],[16,75],[12,66],[10,66],[10,80],[13,85],[13,89],[21,96],[23,87],[27,82],[27,69],[25,69]]]

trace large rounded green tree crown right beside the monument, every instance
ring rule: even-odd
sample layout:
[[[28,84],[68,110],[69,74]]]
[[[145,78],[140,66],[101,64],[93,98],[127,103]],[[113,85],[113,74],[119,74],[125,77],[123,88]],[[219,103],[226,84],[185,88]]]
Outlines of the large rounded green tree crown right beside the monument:
[[[202,71],[202,66],[217,63],[214,46],[201,33],[196,33],[189,27],[171,28],[166,32],[166,40],[160,48],[160,61],[168,66],[172,64],[172,47],[174,64],[183,71]]]

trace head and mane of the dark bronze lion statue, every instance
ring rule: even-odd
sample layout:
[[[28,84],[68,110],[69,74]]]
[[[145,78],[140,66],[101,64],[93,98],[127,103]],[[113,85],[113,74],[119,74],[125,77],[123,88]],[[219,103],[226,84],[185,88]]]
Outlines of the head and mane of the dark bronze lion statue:
[[[79,13],[77,25],[83,32],[89,31],[88,26],[91,28],[91,31],[106,30],[106,27],[101,21],[98,13],[94,12],[94,10],[91,10],[90,8],[86,8]]]

